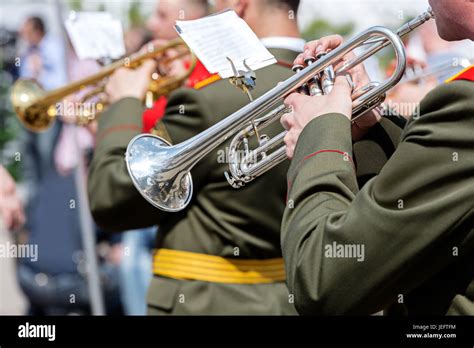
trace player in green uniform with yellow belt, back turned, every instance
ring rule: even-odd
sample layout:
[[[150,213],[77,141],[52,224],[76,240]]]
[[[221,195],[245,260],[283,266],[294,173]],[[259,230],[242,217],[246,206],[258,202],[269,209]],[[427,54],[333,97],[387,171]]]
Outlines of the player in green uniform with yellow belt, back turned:
[[[254,97],[292,76],[291,62],[304,49],[296,23],[298,0],[219,0],[242,17],[275,55],[278,64],[256,72]],[[140,132],[140,99],[154,69],[148,62],[122,70],[109,81],[115,101],[99,122],[97,150],[89,173],[89,196],[95,220],[120,231],[159,224],[148,313],[158,314],[296,314],[285,284],[280,250],[280,222],[285,208],[287,164],[281,164],[244,189],[232,189],[219,161],[229,143],[192,170],[194,197],[179,213],[159,211],[137,192],[123,154]],[[162,125],[172,143],[180,143],[240,109],[247,97],[228,81],[211,78],[171,94]],[[377,173],[399,134],[384,124],[358,146],[361,180]],[[275,124],[269,136],[283,129]],[[383,141],[380,141],[383,139]],[[389,145],[387,145],[389,144]],[[363,153],[372,151],[364,162]],[[362,164],[365,163],[365,164]]]

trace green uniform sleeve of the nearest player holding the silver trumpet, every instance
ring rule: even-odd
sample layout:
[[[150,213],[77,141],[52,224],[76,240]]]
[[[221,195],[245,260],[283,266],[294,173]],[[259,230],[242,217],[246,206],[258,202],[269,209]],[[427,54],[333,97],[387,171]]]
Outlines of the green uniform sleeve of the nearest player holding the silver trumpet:
[[[465,252],[474,195],[473,90],[456,82],[428,95],[421,117],[360,191],[349,121],[324,115],[303,130],[281,235],[301,314],[374,313],[455,262],[461,255],[453,248]]]

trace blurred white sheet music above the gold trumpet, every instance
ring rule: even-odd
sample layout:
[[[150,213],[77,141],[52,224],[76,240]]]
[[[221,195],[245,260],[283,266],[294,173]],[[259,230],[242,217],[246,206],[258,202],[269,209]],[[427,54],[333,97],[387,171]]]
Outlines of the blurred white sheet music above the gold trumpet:
[[[115,59],[125,54],[122,24],[110,13],[73,12],[65,26],[79,59]]]

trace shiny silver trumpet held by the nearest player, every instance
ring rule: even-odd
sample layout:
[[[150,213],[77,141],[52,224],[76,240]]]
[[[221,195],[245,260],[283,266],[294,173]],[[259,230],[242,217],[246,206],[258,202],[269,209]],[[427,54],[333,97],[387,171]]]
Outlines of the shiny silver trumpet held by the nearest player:
[[[307,67],[294,67],[295,75],[277,85],[253,102],[216,123],[194,137],[174,146],[153,135],[138,135],[128,144],[125,161],[130,177],[140,194],[153,206],[168,212],[184,209],[193,192],[191,169],[219,145],[234,138],[229,146],[229,172],[226,177],[234,187],[241,187],[284,161],[283,138],[259,135],[262,129],[278,120],[289,110],[279,106],[293,92],[311,95],[329,93],[337,75],[344,75],[354,66],[391,45],[395,52],[396,68],[381,83],[371,82],[352,94],[353,120],[383,102],[385,92],[403,77],[406,55],[401,37],[433,18],[431,8],[392,32],[385,27],[372,27],[361,32],[327,54],[311,59]],[[343,58],[359,47],[367,47],[361,54],[347,61]],[[342,62],[337,69],[336,63]],[[256,134],[258,148],[248,148],[248,138]],[[244,155],[238,149],[244,148]]]

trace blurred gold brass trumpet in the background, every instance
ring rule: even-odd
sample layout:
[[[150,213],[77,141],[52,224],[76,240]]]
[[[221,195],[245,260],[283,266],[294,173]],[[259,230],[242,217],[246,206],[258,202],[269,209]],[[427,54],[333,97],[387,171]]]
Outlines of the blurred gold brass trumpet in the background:
[[[176,49],[178,53],[174,57],[167,58],[165,57],[165,53],[170,49]],[[180,49],[181,52],[179,52]],[[58,115],[56,108],[58,102],[86,87],[92,87],[92,90],[81,98],[80,103],[82,104],[94,96],[103,94],[107,77],[112,75],[117,69],[121,67],[137,68],[147,59],[157,59],[160,66],[165,66],[189,54],[191,55],[190,67],[181,75],[166,76],[166,73],[153,74],[154,76],[152,76],[152,81],[150,82],[145,98],[146,106],[151,107],[153,99],[156,98],[156,96],[167,95],[174,89],[180,87],[189,77],[196,65],[196,57],[190,52],[181,39],[172,40],[160,47],[149,45],[146,52],[139,52],[122,58],[104,67],[94,75],[52,91],[45,91],[41,85],[33,79],[20,79],[12,86],[10,94],[11,103],[18,119],[26,128],[34,132],[41,132],[52,126],[55,117]],[[104,98],[94,103],[97,113],[100,114],[105,109],[106,103],[107,101]],[[89,110],[85,110],[81,115],[77,115],[77,123],[84,125],[91,122],[95,117],[91,118],[90,114]]]

